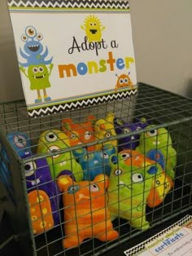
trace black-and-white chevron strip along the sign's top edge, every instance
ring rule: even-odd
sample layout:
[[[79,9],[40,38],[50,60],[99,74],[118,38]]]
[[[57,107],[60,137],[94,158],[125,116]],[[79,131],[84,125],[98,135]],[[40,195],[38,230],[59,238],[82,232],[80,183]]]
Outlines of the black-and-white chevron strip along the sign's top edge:
[[[129,0],[8,0],[8,7],[129,9]]]

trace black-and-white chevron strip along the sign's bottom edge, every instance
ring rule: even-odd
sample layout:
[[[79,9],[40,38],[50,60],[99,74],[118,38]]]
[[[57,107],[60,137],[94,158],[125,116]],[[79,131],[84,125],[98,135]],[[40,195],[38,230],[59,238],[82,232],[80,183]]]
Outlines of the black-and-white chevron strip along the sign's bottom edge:
[[[85,108],[91,105],[106,103],[115,99],[129,98],[131,95],[137,95],[137,89],[126,90],[111,95],[102,95],[90,99],[79,99],[70,103],[58,104],[49,107],[42,107],[38,109],[28,109],[29,117],[42,117],[53,113],[63,113],[68,110],[74,110],[77,108]]]

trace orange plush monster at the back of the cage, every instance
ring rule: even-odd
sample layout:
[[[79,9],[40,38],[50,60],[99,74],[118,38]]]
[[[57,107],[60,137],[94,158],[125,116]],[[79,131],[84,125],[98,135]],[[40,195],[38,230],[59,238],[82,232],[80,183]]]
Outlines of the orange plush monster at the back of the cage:
[[[95,117],[87,117],[88,121],[75,123],[71,118],[64,118],[62,120],[62,130],[68,135],[70,146],[77,144],[86,144],[95,141],[94,137],[94,121]],[[88,151],[94,151],[95,146],[87,147]]]

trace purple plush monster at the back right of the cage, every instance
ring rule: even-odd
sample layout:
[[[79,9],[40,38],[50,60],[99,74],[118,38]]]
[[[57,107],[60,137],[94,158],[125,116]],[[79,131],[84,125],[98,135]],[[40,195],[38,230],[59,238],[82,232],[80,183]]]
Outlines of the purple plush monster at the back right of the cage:
[[[125,122],[123,119],[115,117],[114,118],[114,126],[116,129],[116,135],[126,135],[124,138],[118,139],[118,149],[119,151],[124,149],[135,149],[138,146],[139,142],[139,134],[129,135],[133,131],[142,130],[148,123],[145,118],[141,120],[137,120],[133,123]]]

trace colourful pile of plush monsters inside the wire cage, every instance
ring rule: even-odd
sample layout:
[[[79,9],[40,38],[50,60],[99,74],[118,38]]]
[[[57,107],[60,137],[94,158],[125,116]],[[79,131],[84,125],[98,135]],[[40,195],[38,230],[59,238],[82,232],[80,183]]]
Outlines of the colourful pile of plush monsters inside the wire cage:
[[[116,239],[111,223],[116,218],[139,230],[149,228],[146,207],[164,202],[177,165],[170,133],[155,127],[145,118],[128,123],[114,113],[79,123],[64,118],[60,130],[42,131],[36,152],[28,135],[7,135],[25,160],[34,234],[64,218],[63,246],[72,248],[89,237]]]

